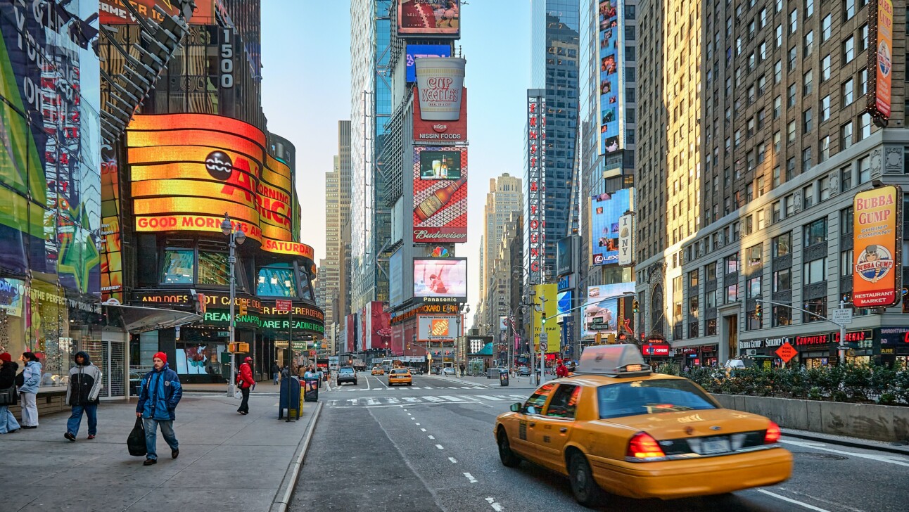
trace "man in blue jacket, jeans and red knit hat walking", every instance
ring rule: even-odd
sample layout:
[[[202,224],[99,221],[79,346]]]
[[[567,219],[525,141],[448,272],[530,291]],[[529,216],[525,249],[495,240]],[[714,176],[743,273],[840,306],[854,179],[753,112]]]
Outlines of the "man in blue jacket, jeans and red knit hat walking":
[[[148,453],[145,455],[143,466],[151,466],[158,462],[155,444],[159,426],[161,435],[171,448],[171,458],[180,455],[180,445],[174,433],[176,406],[183,397],[180,377],[167,366],[167,355],[164,352],[155,353],[152,362],[154,368],[142,378],[139,402],[135,405],[135,416],[141,417],[145,424],[145,448]]]

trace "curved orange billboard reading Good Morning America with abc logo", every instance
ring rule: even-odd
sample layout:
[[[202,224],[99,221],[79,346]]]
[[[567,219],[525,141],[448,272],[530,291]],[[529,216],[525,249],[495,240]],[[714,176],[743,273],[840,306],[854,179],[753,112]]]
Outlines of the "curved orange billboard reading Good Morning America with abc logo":
[[[291,169],[265,144],[258,128],[229,117],[135,115],[126,128],[135,230],[221,233],[227,213],[263,250],[313,259],[294,241]]]

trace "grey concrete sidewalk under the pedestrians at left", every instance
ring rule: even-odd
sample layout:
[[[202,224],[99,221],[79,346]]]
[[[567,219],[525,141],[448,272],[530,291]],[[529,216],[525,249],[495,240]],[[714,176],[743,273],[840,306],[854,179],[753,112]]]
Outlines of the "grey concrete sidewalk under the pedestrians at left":
[[[223,387],[222,387],[223,389]],[[68,414],[41,417],[41,426],[0,437],[4,510],[283,510],[311,426],[321,404],[307,403],[299,421],[277,419],[277,398],[240,401],[184,394],[174,429],[180,457],[158,433],[158,463],[131,457],[126,437],[135,424],[135,400],[102,402],[98,437],[89,441],[85,419],[75,443],[67,441]]]

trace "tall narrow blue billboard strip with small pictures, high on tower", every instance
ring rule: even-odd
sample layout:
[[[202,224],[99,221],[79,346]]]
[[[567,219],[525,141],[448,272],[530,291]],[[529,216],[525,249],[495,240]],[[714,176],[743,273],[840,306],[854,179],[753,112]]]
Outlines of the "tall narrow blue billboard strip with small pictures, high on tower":
[[[600,0],[600,155],[619,149],[618,0]]]

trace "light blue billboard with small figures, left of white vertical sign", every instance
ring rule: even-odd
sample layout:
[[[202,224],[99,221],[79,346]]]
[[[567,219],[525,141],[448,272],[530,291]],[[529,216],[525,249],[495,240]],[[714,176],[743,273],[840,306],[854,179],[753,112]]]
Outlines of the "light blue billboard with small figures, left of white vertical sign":
[[[631,209],[631,190],[594,196],[590,201],[590,264],[615,265],[619,262],[619,218]]]

